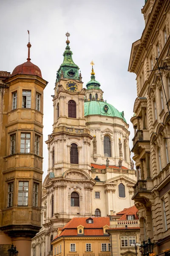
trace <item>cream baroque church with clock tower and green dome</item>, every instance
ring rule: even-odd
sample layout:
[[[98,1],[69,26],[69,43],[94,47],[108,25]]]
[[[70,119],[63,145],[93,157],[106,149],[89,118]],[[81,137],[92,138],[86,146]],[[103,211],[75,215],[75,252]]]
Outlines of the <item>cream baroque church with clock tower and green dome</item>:
[[[51,241],[71,218],[105,217],[133,206],[136,173],[124,112],[103,100],[93,62],[91,80],[83,88],[68,38],[66,44],[52,96],[42,228],[32,239],[32,256],[52,255]]]

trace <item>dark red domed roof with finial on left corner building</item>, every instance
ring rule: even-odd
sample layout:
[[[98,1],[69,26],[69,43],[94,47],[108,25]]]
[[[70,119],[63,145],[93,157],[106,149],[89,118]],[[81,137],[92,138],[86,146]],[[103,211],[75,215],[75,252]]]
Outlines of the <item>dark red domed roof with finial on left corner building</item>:
[[[42,78],[41,75],[41,70],[39,69],[39,67],[37,67],[36,65],[34,65],[30,60],[30,48],[31,48],[31,44],[30,42],[27,44],[28,47],[28,58],[27,58],[27,62],[24,62],[23,64],[17,66],[11,76],[17,75],[17,74],[23,74],[23,75],[35,75],[35,76],[40,76]]]

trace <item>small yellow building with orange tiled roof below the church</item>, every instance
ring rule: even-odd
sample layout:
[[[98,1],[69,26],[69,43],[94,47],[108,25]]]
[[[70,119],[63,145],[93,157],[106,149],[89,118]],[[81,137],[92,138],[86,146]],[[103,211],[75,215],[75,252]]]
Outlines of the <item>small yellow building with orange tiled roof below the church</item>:
[[[109,217],[73,218],[58,228],[51,243],[53,256],[111,256]]]

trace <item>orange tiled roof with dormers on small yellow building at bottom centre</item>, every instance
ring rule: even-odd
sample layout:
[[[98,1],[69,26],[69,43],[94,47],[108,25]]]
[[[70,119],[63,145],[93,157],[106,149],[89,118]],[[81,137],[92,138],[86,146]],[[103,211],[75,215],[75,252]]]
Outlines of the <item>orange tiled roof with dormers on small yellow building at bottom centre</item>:
[[[104,236],[103,227],[110,226],[109,217],[93,217],[93,223],[87,223],[86,220],[89,218],[72,218],[59,236],[54,238],[57,239],[60,236],[77,236],[77,227],[82,225],[84,227],[84,236]]]

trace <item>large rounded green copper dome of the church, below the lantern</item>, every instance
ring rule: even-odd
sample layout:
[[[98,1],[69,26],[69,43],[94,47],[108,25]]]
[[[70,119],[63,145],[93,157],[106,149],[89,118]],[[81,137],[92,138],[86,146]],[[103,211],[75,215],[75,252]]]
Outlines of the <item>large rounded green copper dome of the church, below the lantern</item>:
[[[102,101],[92,100],[85,102],[85,116],[88,115],[119,117],[126,122],[123,111],[119,112],[111,104]]]

